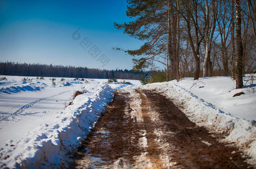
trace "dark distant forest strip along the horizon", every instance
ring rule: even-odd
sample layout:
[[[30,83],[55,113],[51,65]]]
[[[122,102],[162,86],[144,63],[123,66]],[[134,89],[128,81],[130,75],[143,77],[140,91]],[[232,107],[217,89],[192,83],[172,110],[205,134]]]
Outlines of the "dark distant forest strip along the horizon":
[[[100,70],[97,68],[47,65],[39,63],[0,62],[0,75],[6,76],[44,76],[66,78],[118,78],[139,80],[151,75],[152,71]]]

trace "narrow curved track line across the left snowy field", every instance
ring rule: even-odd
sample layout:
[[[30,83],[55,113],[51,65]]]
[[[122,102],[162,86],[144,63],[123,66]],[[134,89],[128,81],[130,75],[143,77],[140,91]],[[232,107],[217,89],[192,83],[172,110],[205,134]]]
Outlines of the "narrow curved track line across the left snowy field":
[[[70,90],[69,90],[69,91],[70,91]],[[25,111],[27,108],[33,106],[34,104],[39,103],[40,101],[43,101],[43,100],[47,100],[48,98],[52,98],[52,97],[61,95],[61,94],[63,94],[63,93],[67,93],[67,92],[69,92],[69,91],[63,91],[63,92],[57,93],[57,94],[55,94],[55,95],[48,96],[48,97],[44,97],[44,98],[40,98],[40,99],[38,99],[38,100],[36,100],[36,101],[32,101],[32,102],[30,102],[30,103],[27,103],[26,105],[22,106],[22,107],[19,108],[17,111],[15,111],[13,114],[0,117],[0,121],[10,121],[10,120],[14,120],[14,119],[15,119],[15,116],[20,115],[23,111]]]

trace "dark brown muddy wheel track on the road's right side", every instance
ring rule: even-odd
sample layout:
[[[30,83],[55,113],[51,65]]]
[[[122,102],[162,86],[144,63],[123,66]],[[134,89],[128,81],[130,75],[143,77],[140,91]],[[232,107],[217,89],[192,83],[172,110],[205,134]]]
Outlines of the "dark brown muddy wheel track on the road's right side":
[[[172,132],[164,137],[178,168],[252,168],[237,148],[220,143],[204,127],[196,126],[165,96],[147,90],[143,93],[159,113],[162,129]]]

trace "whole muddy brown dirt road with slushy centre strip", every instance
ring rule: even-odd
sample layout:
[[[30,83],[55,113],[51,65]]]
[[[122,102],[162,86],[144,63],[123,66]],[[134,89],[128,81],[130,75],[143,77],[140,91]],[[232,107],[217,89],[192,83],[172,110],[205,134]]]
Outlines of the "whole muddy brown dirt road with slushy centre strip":
[[[251,168],[218,137],[159,93],[118,90],[70,168]]]

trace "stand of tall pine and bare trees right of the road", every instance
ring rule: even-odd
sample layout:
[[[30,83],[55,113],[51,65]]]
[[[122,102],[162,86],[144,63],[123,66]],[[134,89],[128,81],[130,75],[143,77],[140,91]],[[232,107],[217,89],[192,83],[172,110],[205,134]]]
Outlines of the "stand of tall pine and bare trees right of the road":
[[[166,80],[194,76],[256,73],[255,0],[127,0],[129,23],[114,23],[144,41],[133,56],[134,69],[165,66]]]

